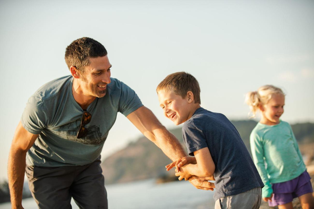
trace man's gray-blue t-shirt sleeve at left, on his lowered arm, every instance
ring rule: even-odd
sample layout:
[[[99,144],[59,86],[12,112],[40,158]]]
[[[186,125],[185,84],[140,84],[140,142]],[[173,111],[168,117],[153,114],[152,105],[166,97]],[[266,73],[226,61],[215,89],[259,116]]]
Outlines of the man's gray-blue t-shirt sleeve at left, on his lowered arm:
[[[33,134],[39,134],[49,124],[49,116],[47,114],[44,103],[32,96],[23,111],[21,117],[22,126]]]

